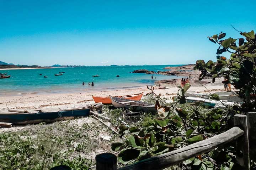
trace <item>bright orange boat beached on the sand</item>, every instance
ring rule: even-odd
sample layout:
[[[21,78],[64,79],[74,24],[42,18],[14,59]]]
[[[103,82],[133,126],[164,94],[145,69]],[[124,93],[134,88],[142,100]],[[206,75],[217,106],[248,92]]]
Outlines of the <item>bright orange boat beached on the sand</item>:
[[[143,92],[139,94],[134,94],[134,95],[126,95],[126,96],[112,96],[112,97],[121,97],[121,98],[127,98],[131,100],[140,100],[142,98]],[[107,97],[97,97],[97,96],[92,96],[94,99],[95,103],[102,102],[102,104],[111,104],[111,99],[110,96]]]

